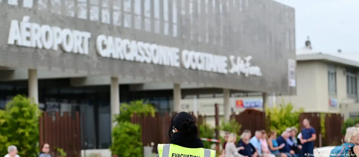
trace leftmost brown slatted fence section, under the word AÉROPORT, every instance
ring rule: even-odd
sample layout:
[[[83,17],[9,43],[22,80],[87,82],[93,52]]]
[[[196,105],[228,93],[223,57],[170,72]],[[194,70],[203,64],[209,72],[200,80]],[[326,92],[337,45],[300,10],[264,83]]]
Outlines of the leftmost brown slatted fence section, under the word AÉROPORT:
[[[39,146],[50,144],[53,157],[56,157],[56,148],[63,149],[66,157],[78,157],[81,151],[80,119],[79,112],[73,116],[68,112],[62,116],[59,112],[43,112],[39,118]]]

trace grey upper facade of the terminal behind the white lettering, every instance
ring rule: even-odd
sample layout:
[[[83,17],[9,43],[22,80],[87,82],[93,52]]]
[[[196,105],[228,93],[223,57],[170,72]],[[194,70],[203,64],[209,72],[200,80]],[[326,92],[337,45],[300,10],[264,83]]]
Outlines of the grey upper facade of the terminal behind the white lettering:
[[[295,58],[294,9],[274,1],[203,0],[194,3],[165,0],[160,3],[156,0],[109,0],[103,5],[98,5],[99,1],[79,1],[78,4],[61,1],[49,6],[42,0],[6,2],[0,5],[3,17],[0,24],[3,30],[0,33],[0,66],[3,67],[116,76],[119,80],[130,77],[232,90],[295,93],[295,88],[288,90],[286,68],[287,60]],[[6,41],[12,20],[90,32],[89,54],[9,45]],[[100,34],[181,50],[242,58],[252,56],[250,63],[260,67],[262,76],[247,78],[237,74],[186,70],[182,66],[104,58],[95,51],[96,37]],[[228,64],[229,68],[233,66]]]

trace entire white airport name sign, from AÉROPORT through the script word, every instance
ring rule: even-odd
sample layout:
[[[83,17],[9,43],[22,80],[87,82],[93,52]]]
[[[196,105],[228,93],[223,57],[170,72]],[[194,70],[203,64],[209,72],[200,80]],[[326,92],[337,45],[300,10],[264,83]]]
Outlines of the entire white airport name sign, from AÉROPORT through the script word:
[[[89,54],[90,32],[40,25],[29,22],[29,19],[29,16],[24,16],[21,22],[11,20],[8,44],[52,50],[61,47],[65,52]],[[246,77],[262,76],[261,69],[251,65],[252,56],[241,58],[187,49],[180,51],[177,47],[131,41],[103,34],[97,36],[96,49],[100,56],[107,58],[178,68],[182,65],[186,69],[223,74],[243,73]]]

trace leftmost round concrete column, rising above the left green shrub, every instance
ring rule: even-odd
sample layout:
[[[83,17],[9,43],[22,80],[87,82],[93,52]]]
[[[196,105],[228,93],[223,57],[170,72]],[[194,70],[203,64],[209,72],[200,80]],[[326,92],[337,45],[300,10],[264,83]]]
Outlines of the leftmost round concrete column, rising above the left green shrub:
[[[37,83],[37,70],[29,69],[28,70],[28,90],[29,98],[35,104],[39,104],[39,90]]]

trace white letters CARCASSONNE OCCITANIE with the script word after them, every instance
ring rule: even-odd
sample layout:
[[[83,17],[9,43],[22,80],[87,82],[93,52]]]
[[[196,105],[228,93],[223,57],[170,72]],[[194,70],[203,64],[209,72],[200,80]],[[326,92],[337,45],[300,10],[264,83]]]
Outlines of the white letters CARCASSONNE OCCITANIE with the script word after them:
[[[186,69],[209,71],[216,73],[232,73],[246,77],[250,75],[262,76],[258,66],[252,66],[252,56],[244,58],[223,56],[206,52],[182,50],[138,41],[130,41],[118,37],[98,35],[96,49],[100,56],[127,61],[153,63],[156,65],[182,67]],[[228,69],[228,64],[231,68]]]

